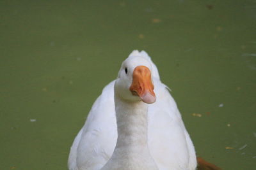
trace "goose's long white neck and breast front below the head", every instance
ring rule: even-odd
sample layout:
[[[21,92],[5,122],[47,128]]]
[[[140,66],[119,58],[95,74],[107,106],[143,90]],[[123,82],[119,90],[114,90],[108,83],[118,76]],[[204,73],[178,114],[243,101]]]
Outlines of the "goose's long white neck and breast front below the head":
[[[128,102],[115,94],[118,137],[111,159],[102,170],[157,169],[148,148],[148,105]]]

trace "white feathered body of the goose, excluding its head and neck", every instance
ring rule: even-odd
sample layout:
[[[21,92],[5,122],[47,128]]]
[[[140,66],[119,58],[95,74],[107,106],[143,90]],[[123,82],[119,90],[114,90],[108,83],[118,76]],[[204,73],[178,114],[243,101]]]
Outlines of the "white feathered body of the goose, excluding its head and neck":
[[[153,159],[150,162],[156,163],[157,166],[150,165],[151,169],[196,169],[195,148],[182,122],[177,104],[170,95],[168,87],[161,83],[157,68],[147,53],[134,51],[129,57],[137,55],[145,57],[152,64],[152,81],[154,82],[154,92],[157,99],[155,103],[148,104],[147,108],[148,150],[147,148],[143,150],[141,147],[140,152],[138,150],[129,152],[129,154],[134,154],[129,158],[142,155],[141,158],[132,160],[132,162],[136,162],[136,160],[143,161],[143,155],[150,155]],[[116,163],[115,158],[113,158],[114,155],[118,155],[118,157],[123,155],[122,164],[127,162],[124,155],[128,153],[124,153],[122,150],[119,150],[118,153],[118,150],[115,149],[118,140],[114,95],[115,81],[104,87],[102,94],[93,104],[83,128],[77,134],[70,149],[68,169],[99,170],[102,167],[103,169],[109,169],[109,162]],[[116,154],[113,154],[114,150]],[[143,153],[148,151],[150,153]],[[150,160],[150,158],[147,160]],[[119,159],[118,161],[122,160]],[[118,162],[117,165],[120,164]],[[127,169],[150,169],[148,167],[122,167],[127,167]],[[116,167],[116,169],[120,169],[120,167]]]

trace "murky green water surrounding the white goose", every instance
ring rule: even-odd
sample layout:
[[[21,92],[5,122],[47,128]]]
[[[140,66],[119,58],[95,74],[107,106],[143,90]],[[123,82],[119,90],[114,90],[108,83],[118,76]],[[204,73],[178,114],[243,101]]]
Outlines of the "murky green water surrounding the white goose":
[[[134,49],[157,64],[198,155],[255,169],[256,1],[0,1],[0,32],[0,169],[67,169]]]

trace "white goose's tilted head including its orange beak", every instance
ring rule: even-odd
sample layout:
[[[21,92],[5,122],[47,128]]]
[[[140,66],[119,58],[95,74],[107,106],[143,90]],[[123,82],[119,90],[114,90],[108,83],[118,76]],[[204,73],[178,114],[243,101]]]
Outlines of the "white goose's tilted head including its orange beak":
[[[154,103],[152,66],[144,57],[128,57],[122,63],[115,82],[115,94],[125,101]]]

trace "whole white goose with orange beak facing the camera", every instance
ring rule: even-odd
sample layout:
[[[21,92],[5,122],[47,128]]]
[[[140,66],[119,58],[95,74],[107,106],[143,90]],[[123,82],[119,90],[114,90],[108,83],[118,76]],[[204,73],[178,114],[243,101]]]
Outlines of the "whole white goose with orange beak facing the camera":
[[[145,71],[154,85],[140,76]],[[103,89],[74,140],[68,168],[196,169],[195,149],[177,105],[146,52],[132,52],[118,78]]]

